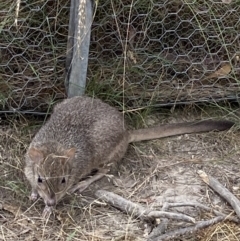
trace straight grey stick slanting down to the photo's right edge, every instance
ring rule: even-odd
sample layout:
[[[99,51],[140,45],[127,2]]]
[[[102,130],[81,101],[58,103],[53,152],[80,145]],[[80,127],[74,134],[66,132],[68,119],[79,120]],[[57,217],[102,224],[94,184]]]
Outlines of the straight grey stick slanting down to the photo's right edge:
[[[232,206],[232,208],[236,212],[238,218],[240,218],[240,201],[215,178],[207,175],[204,171],[201,170],[199,170],[197,173],[205,183],[207,183],[221,197],[226,199],[226,201]]]

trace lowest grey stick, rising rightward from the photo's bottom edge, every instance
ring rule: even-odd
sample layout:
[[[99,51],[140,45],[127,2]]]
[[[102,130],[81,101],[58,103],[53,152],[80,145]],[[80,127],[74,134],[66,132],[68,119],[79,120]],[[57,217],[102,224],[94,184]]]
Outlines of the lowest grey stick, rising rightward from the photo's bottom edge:
[[[207,221],[201,221],[201,222],[198,222],[194,226],[189,226],[189,227],[186,227],[186,228],[181,228],[179,230],[174,230],[174,231],[171,231],[169,233],[165,233],[163,235],[160,235],[158,237],[151,237],[147,241],[173,240],[173,238],[176,238],[180,235],[196,232],[199,229],[207,228],[207,227],[209,227],[213,224],[219,223],[219,222],[223,221],[224,219],[225,219],[224,216],[219,216],[219,217],[207,220]]]

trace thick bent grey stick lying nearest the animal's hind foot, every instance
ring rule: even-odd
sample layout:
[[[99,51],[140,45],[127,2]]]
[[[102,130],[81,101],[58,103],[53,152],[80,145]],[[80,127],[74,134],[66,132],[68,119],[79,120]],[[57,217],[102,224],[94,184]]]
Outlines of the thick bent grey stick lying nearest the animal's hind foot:
[[[185,214],[151,210],[149,208],[145,208],[139,204],[126,200],[123,197],[112,192],[98,190],[95,192],[95,195],[98,198],[104,200],[105,202],[111,204],[112,206],[119,208],[120,210],[131,214],[137,218],[171,218],[189,223],[195,223],[194,218],[189,217]]]

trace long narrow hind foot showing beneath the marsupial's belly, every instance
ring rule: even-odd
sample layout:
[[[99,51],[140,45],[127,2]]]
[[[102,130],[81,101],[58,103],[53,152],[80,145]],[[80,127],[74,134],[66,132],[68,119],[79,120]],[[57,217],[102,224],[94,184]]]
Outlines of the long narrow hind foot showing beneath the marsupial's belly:
[[[89,177],[88,179],[79,182],[78,184],[76,184],[74,187],[72,187],[69,192],[70,193],[74,193],[76,191],[78,191],[79,193],[83,192],[88,186],[90,186],[93,182],[101,179],[102,177],[105,176],[105,174],[108,172],[108,169],[99,169],[98,173],[95,174],[92,177]]]

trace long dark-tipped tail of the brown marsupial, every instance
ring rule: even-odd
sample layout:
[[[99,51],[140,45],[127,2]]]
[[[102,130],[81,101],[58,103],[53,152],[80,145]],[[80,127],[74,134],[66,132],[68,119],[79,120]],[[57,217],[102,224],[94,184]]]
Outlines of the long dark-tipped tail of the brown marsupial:
[[[130,130],[129,143],[181,134],[208,132],[213,130],[224,131],[230,129],[234,124],[234,122],[226,120],[204,120],[199,122],[176,123],[146,129]]]

